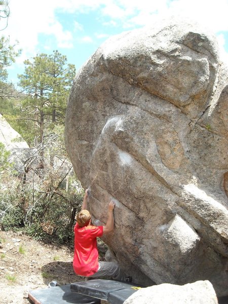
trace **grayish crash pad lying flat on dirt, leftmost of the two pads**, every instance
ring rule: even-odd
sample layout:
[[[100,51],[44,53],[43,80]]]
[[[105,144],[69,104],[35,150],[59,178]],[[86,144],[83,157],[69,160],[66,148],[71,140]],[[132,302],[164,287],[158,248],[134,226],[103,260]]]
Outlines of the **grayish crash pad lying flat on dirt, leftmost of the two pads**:
[[[34,304],[100,304],[100,299],[71,292],[70,284],[50,288],[34,289],[28,292]]]

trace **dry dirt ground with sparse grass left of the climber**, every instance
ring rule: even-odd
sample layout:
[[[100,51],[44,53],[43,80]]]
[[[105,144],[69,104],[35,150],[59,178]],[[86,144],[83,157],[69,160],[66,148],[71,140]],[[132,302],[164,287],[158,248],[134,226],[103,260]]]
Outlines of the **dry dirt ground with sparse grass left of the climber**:
[[[0,231],[0,304],[27,304],[28,291],[83,281],[72,268],[73,246],[34,241],[13,232]]]

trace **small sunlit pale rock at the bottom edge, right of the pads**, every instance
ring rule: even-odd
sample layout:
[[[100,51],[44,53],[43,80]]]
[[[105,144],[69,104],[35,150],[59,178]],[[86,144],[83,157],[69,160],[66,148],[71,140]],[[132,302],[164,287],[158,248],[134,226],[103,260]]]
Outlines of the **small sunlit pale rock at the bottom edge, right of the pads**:
[[[183,286],[161,284],[140,289],[124,304],[218,304],[213,286],[209,281],[197,281]]]

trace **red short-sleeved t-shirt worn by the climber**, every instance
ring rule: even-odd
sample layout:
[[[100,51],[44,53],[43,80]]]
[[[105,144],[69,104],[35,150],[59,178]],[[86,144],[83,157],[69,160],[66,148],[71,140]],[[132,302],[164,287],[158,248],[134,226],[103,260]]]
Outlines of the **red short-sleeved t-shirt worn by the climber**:
[[[73,270],[80,276],[91,276],[98,271],[97,237],[103,235],[103,226],[74,226]]]

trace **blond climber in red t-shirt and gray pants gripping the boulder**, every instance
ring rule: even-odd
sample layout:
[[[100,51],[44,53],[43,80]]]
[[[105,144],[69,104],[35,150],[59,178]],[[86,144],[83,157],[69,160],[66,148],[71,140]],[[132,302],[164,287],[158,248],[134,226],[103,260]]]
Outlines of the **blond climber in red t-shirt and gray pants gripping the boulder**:
[[[114,229],[113,209],[115,203],[108,204],[108,217],[105,226],[94,226],[91,214],[87,210],[88,189],[85,191],[81,211],[77,214],[74,226],[73,270],[86,280],[99,277],[112,277],[114,280],[129,281],[114,262],[98,261],[97,237],[101,237]]]

